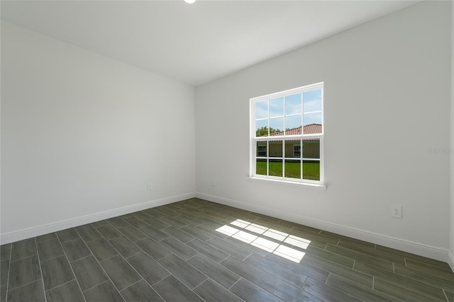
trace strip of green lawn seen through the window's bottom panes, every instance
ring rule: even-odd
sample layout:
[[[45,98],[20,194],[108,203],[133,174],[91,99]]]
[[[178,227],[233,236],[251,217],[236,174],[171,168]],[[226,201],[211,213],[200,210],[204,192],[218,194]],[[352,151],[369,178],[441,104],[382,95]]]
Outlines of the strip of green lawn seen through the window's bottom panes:
[[[258,160],[256,165],[256,173],[258,175],[267,175],[267,162]],[[282,162],[270,161],[270,176],[282,177]],[[285,163],[286,178],[301,178],[301,168],[299,162]],[[320,163],[310,162],[303,163],[303,179],[305,180],[320,180]]]

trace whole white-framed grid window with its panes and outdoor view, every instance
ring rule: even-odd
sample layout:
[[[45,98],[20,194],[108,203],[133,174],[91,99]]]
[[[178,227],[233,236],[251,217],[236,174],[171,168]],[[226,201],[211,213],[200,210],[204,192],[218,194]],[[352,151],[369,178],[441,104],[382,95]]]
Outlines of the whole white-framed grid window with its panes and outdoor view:
[[[323,83],[250,99],[250,175],[323,183]]]

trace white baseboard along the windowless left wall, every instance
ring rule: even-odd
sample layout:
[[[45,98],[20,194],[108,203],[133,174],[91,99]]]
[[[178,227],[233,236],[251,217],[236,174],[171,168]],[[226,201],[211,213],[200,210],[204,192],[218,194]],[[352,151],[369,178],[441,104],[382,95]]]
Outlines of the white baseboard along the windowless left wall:
[[[133,213],[135,211],[141,211],[144,209],[150,209],[153,207],[162,206],[164,204],[170,204],[172,202],[179,202],[184,199],[194,198],[196,194],[194,192],[181,194],[172,197],[166,197],[162,199],[151,200],[150,202],[143,202],[141,204],[132,204],[127,207],[121,207],[118,209],[110,209],[95,214],[89,214],[82,217],[76,217],[73,219],[67,219],[65,221],[57,221],[54,223],[48,223],[42,226],[36,226],[33,228],[26,228],[20,231],[14,231],[11,233],[1,234],[0,244],[12,243],[18,240],[32,238],[35,236],[41,236],[44,234],[65,230],[66,228],[73,228],[74,226],[82,226],[83,224],[100,221],[103,219],[109,219],[124,214]]]

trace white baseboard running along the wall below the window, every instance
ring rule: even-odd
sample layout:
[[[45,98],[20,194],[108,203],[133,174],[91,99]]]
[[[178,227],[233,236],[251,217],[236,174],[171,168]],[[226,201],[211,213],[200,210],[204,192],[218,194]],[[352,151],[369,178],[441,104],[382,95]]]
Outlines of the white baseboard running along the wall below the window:
[[[268,209],[265,207],[260,207],[253,204],[247,204],[245,202],[238,202],[232,199],[226,199],[223,197],[217,197],[210,194],[196,193],[196,197],[200,199],[206,199],[210,202],[217,202],[219,204],[226,204],[231,207],[236,207],[239,209],[245,209],[247,211],[254,211],[259,214],[264,214],[268,216],[273,216],[279,219],[284,219],[287,221],[292,221],[294,223],[303,224],[305,226],[311,226],[313,228],[319,228],[323,231],[328,231],[332,233],[337,233],[339,235],[348,236],[358,240],[364,240],[370,243],[375,243],[378,245],[383,245],[388,248],[394,248],[396,250],[402,250],[404,252],[410,252],[415,255],[420,255],[423,257],[428,257],[431,259],[443,261],[443,262],[453,262],[454,255],[448,252],[445,248],[439,248],[432,245],[426,245],[423,243],[417,243],[411,240],[405,240],[402,238],[395,238],[392,236],[387,236],[379,233],[373,233],[370,231],[360,230],[358,228],[351,228],[349,226],[342,226],[336,223],[331,223],[327,221],[321,221],[318,219],[311,219],[309,217],[299,216],[297,214],[288,213],[285,211],[279,211],[276,209]],[[454,263],[454,262],[453,262]],[[454,265],[451,265],[451,268],[454,268]],[[454,269],[453,269],[454,270]]]

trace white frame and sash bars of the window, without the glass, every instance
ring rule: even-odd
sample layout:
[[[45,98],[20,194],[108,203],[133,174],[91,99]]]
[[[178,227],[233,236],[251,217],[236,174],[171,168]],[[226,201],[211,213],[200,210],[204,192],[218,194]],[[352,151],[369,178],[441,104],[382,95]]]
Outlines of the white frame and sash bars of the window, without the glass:
[[[293,88],[289,89],[287,91],[280,91],[278,93],[271,93],[267,95],[262,95],[257,98],[250,98],[250,178],[255,178],[255,179],[261,179],[261,180],[277,180],[279,182],[291,182],[291,183],[297,183],[297,184],[302,184],[302,185],[312,185],[316,187],[324,187],[326,189],[326,184],[324,182],[325,180],[325,173],[324,173],[324,156],[323,156],[323,134],[324,134],[324,110],[323,110],[323,103],[324,103],[324,95],[323,95],[323,82],[320,83],[314,83],[311,85],[307,86],[301,86],[298,88]],[[282,135],[282,136],[264,136],[264,137],[255,137],[255,103],[260,102],[261,100],[270,100],[272,98],[280,98],[285,95],[292,95],[296,93],[304,93],[308,91],[314,91],[317,89],[321,89],[321,133],[320,134],[297,134],[297,135]],[[304,100],[301,100],[304,102]],[[303,115],[304,118],[304,113],[308,112],[301,112],[301,115]],[[269,119],[270,117],[268,117]],[[304,121],[303,121],[304,124]],[[285,129],[285,127],[284,127]],[[303,161],[313,161],[314,158],[300,158],[301,159],[301,179],[298,178],[286,178],[284,177],[285,175],[285,165],[284,161],[286,159],[294,159],[294,158],[287,158],[284,153],[284,146],[285,146],[285,141],[294,141],[295,139],[300,139],[300,152],[303,153],[304,149],[304,141],[303,139],[309,139],[309,138],[316,138],[320,139],[320,180],[305,180],[302,179],[303,177]],[[267,156],[262,157],[258,156],[257,153],[257,141],[267,141],[267,146],[269,145],[270,141],[282,141],[282,157],[272,157],[270,156],[270,153],[267,152]],[[283,161],[282,165],[282,177],[279,176],[271,176],[271,175],[258,175],[256,173],[256,160],[258,158],[262,159],[267,159],[267,161],[271,159],[281,159]],[[269,168],[269,165],[267,165]],[[268,170],[267,168],[267,170]],[[269,171],[267,171],[267,174]]]

